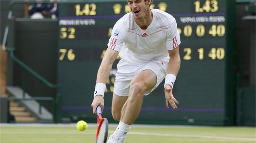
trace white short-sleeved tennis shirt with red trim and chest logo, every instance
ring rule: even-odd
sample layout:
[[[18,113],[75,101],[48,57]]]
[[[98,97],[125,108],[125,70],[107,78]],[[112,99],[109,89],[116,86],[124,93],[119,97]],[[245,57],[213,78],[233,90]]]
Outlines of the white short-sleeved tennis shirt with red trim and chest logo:
[[[133,65],[163,59],[167,50],[180,44],[180,35],[174,17],[159,9],[151,9],[153,20],[147,29],[141,29],[132,13],[127,13],[115,23],[108,48],[117,50],[119,56]]]

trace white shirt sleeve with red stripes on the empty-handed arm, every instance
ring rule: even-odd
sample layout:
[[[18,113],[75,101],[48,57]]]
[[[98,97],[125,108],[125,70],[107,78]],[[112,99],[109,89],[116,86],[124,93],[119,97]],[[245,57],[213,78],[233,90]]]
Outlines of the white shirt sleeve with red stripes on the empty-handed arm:
[[[165,41],[167,50],[173,50],[180,45],[180,34],[178,32],[176,20],[174,20],[169,32],[167,33]]]

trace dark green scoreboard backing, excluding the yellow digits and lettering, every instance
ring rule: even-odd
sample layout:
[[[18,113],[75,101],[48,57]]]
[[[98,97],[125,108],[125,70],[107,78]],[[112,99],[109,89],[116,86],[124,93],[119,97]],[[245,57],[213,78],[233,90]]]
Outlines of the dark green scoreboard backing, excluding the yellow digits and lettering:
[[[180,34],[180,57],[181,67],[174,84],[174,96],[179,101],[178,109],[173,110],[165,107],[165,96],[163,83],[156,88],[150,95],[144,98],[141,113],[136,120],[137,123],[144,122],[142,119],[151,120],[151,123],[158,123],[160,120],[165,124],[208,124],[222,125],[225,120],[226,112],[226,40],[228,39],[228,23],[226,12],[227,0],[217,0],[219,10],[215,13],[195,13],[194,2],[196,0],[154,0],[158,8],[160,2],[166,2],[167,13],[174,15],[178,28],[182,29]],[[201,6],[206,0],[200,0]],[[92,3],[92,2],[88,2]],[[74,27],[76,29],[73,40],[60,39],[59,49],[73,49],[76,55],[74,61],[69,61],[67,56],[63,61],[58,61],[58,82],[62,86],[63,95],[63,117],[76,117],[90,120],[95,118],[92,114],[91,102],[93,101],[93,91],[96,82],[98,67],[101,62],[102,51],[107,48],[108,29],[112,28],[119,18],[98,18],[98,16],[116,16],[113,11],[113,5],[119,3],[122,5],[120,17],[124,15],[124,6],[127,4],[123,1],[117,2],[93,2],[96,4],[97,15],[95,16],[76,16],[74,5],[77,3],[60,3],[59,19],[94,19],[95,25],[61,25],[61,27]],[[81,7],[86,3],[80,3]],[[206,22],[206,23],[181,23],[181,16],[204,16],[204,14],[223,15],[225,22]],[[183,14],[183,15],[180,15]],[[192,17],[192,16],[191,16]],[[195,34],[197,25],[204,25],[206,28],[205,35],[198,37]],[[226,27],[226,34],[223,37],[213,37],[208,34],[209,28],[213,25],[223,24]],[[183,34],[185,25],[191,25],[193,34],[187,38]],[[212,60],[208,57],[211,48],[223,47],[226,55],[222,60]],[[191,60],[184,60],[186,54],[184,48],[191,48]],[[198,48],[204,48],[204,59],[198,59]],[[59,56],[61,53],[59,53]],[[113,65],[116,68],[118,60]],[[110,79],[112,76],[110,76]],[[107,84],[113,86],[113,84]],[[104,117],[112,120],[111,101],[113,93],[105,93]],[[194,119],[194,123],[188,122],[188,119]],[[173,121],[173,122],[169,122]],[[201,122],[200,122],[201,121]],[[147,121],[148,122],[148,121]],[[149,121],[150,122],[150,121]]]

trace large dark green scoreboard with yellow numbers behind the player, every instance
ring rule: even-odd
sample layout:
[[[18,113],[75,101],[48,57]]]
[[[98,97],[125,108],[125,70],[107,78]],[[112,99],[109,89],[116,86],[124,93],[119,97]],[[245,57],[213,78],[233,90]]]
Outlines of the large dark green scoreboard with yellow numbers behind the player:
[[[171,14],[181,38],[181,67],[167,109],[163,82],[146,96],[135,123],[226,125],[233,120],[234,3],[232,0],[154,0],[151,8]],[[59,3],[58,82],[62,116],[94,119],[91,103],[96,76],[112,28],[129,13],[126,0]],[[105,90],[104,116],[110,120],[116,65]],[[159,122],[161,120],[161,123]]]

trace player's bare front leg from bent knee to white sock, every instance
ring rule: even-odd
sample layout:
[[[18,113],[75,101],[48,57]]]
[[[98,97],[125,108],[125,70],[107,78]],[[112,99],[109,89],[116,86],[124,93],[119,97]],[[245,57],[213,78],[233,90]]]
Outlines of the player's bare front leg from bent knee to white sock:
[[[141,110],[145,91],[156,85],[156,74],[151,70],[141,71],[130,84],[129,97],[121,111],[121,122],[131,125]]]

